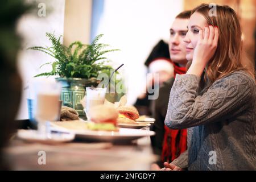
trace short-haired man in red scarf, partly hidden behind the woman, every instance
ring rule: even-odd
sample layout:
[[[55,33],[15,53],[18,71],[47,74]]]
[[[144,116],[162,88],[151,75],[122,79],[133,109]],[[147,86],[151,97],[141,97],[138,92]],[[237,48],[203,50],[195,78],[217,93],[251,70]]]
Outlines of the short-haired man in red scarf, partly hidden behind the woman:
[[[169,52],[172,63],[174,64],[174,77],[164,82],[159,89],[159,97],[155,101],[153,117],[156,119],[151,130],[156,135],[151,137],[154,153],[161,156],[158,164],[161,166],[164,161],[171,162],[182,152],[187,150],[187,129],[172,130],[164,125],[166,117],[168,98],[176,74],[185,73],[187,64],[186,49],[183,39],[187,33],[187,24],[191,11],[184,11],[176,16],[170,28]]]

